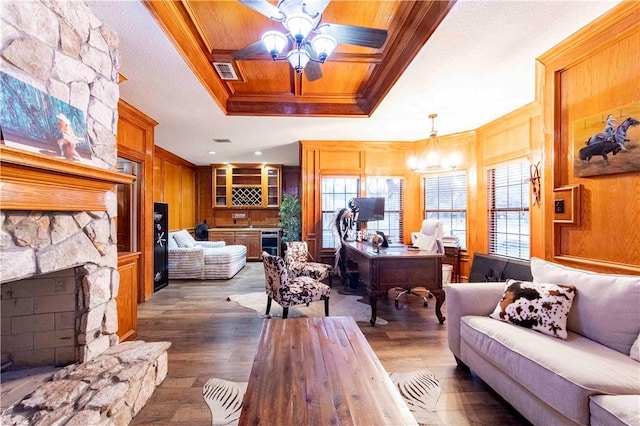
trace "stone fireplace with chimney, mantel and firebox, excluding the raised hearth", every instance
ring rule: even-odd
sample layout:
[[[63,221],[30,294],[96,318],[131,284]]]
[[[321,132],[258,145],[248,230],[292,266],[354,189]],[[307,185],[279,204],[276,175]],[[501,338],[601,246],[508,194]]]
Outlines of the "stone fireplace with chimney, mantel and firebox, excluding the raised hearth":
[[[79,110],[91,151],[71,161],[24,136],[0,145],[2,362],[86,362],[118,343],[114,190],[133,181],[115,171],[118,36],[81,1],[3,1],[0,12],[0,71]],[[36,105],[29,111],[38,114]],[[42,277],[53,272],[67,277]],[[71,298],[73,332],[56,325],[71,321],[70,310],[53,309]]]

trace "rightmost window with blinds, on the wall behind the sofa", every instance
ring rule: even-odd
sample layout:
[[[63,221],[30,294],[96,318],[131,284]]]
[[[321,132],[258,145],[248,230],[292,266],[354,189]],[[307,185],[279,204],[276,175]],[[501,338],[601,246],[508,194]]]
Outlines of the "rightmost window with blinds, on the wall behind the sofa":
[[[529,259],[528,177],[524,160],[487,170],[490,254]]]

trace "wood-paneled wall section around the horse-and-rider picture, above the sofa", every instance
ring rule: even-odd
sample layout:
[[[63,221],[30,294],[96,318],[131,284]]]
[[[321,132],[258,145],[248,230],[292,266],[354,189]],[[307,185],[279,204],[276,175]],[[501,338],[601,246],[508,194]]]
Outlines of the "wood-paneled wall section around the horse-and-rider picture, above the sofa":
[[[640,274],[640,172],[573,174],[576,144],[584,143],[573,140],[573,124],[640,102],[639,57],[640,2],[623,2],[539,58],[546,129],[541,228],[548,259]],[[624,158],[621,152],[615,161]],[[554,223],[553,190],[566,185],[581,187],[579,225]]]

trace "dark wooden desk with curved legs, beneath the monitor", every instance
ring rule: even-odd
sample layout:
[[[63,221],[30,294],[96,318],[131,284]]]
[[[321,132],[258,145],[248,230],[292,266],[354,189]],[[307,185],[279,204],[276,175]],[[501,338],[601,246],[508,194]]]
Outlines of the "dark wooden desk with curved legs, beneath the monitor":
[[[371,305],[371,325],[378,316],[378,297],[394,287],[425,287],[436,298],[436,316],[444,323],[441,307],[445,293],[442,289],[441,254],[425,254],[406,247],[380,248],[380,253],[369,243],[345,242],[343,250],[348,259],[358,264],[360,279],[366,284]]]

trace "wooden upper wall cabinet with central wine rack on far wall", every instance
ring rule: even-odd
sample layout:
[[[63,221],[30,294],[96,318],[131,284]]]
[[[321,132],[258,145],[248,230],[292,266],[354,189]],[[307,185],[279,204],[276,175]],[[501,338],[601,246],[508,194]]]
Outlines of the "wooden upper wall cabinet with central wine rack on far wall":
[[[266,208],[280,205],[282,166],[213,165],[213,207]]]

